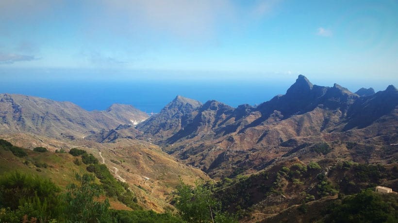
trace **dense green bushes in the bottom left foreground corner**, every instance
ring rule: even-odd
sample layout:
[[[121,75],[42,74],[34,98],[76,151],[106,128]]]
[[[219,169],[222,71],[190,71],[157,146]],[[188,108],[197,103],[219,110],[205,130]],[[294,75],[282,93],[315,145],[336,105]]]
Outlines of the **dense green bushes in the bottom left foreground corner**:
[[[76,174],[61,193],[49,179],[19,172],[0,176],[0,222],[40,223],[184,223],[171,213],[146,210],[112,210],[107,199],[99,201],[102,189],[91,174]]]

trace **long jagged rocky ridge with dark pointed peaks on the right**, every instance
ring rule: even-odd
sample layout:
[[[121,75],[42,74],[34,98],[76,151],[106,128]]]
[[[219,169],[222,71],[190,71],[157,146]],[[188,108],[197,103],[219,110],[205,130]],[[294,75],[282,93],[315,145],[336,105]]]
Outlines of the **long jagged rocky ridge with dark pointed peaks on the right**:
[[[313,85],[299,75],[286,94],[257,107],[208,101],[187,109],[187,103],[178,101],[177,97],[137,129],[146,137],[155,135],[155,143],[164,145],[166,152],[215,178],[257,171],[319,142],[368,143],[372,138],[378,145],[398,143],[394,86],[364,96],[338,84]],[[383,159],[380,156],[363,159]]]

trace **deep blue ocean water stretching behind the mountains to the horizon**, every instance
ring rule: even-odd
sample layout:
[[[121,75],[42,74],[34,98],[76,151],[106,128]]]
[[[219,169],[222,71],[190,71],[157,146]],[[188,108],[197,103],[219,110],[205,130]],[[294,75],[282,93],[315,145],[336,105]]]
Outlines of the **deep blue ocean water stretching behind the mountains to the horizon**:
[[[293,82],[294,83],[294,82]],[[177,95],[208,100],[236,107],[261,104],[277,94],[284,94],[293,83],[254,81],[5,81],[0,93],[17,93],[70,101],[86,110],[105,110],[111,104],[131,104],[147,113],[159,112]]]

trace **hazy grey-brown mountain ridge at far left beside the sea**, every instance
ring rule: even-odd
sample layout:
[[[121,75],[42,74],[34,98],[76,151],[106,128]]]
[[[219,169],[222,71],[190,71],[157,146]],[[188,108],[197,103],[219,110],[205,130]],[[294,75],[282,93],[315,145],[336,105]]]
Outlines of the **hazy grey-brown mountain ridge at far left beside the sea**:
[[[89,112],[70,102],[0,94],[0,117],[0,133],[28,132],[73,140],[148,116],[131,105],[114,104],[106,111]]]

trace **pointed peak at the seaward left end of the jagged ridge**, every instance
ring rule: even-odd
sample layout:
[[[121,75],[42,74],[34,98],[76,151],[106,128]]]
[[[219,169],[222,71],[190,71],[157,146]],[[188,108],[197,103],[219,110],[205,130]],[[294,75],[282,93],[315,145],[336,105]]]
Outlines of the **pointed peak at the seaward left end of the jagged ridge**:
[[[158,114],[137,125],[137,129],[149,137],[163,140],[180,131],[186,124],[186,115],[191,114],[201,103],[199,101],[177,96]]]

